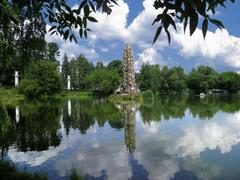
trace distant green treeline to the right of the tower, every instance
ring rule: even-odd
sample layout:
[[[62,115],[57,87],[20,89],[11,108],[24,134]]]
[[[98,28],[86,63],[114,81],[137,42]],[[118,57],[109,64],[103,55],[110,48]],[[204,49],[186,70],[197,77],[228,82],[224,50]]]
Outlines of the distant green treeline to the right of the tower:
[[[158,91],[206,92],[211,89],[221,89],[230,93],[240,90],[240,75],[236,72],[218,73],[212,67],[199,66],[190,73],[185,73],[182,67],[168,68],[159,65],[144,64],[137,74],[140,89]]]

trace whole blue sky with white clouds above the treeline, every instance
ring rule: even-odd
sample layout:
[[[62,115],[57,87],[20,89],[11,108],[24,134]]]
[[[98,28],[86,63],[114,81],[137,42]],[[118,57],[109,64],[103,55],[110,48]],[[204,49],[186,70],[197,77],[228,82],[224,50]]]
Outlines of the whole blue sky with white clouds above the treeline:
[[[205,40],[197,29],[192,37],[189,32],[171,30],[172,41],[168,45],[165,34],[152,45],[156,26],[151,23],[158,13],[152,6],[154,0],[118,0],[119,6],[113,8],[110,16],[97,13],[98,23],[90,24],[92,33],[87,40],[78,44],[62,40],[57,36],[46,35],[48,42],[56,42],[63,54],[70,57],[85,55],[90,61],[105,64],[114,59],[122,59],[125,43],[130,42],[134,48],[135,68],[139,70],[143,63],[160,66],[182,66],[186,71],[199,65],[209,65],[218,71],[233,70],[240,72],[240,2],[227,4],[227,8],[217,10],[218,19],[226,29],[220,31],[211,26]],[[74,7],[79,0],[68,0]],[[49,28],[49,27],[48,27]],[[76,30],[77,32],[77,30]]]

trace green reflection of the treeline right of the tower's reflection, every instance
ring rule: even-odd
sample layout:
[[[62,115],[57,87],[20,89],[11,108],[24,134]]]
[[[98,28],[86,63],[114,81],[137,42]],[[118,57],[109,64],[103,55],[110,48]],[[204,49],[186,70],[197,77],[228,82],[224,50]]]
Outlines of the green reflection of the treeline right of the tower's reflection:
[[[237,95],[212,95],[204,99],[198,96],[170,95],[146,100],[140,106],[144,122],[185,117],[186,110],[194,117],[209,119],[218,111],[236,112],[240,109]]]

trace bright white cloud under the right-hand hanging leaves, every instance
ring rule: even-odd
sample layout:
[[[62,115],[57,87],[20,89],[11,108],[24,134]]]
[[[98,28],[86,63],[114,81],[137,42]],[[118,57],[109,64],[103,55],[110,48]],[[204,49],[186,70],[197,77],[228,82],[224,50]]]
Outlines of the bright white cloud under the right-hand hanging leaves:
[[[186,58],[203,57],[215,64],[240,68],[240,39],[231,36],[225,29],[208,31],[204,40],[200,29],[197,28],[195,33],[189,36],[189,31],[184,34],[182,26],[179,25],[178,31],[172,32],[172,35],[173,43]]]

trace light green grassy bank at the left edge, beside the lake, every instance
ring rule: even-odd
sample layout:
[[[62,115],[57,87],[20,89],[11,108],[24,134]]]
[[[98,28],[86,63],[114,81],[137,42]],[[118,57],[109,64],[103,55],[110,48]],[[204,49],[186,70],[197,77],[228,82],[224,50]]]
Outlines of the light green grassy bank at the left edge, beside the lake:
[[[0,87],[0,100],[4,105],[15,105],[24,100],[24,95],[20,94],[16,88]]]

